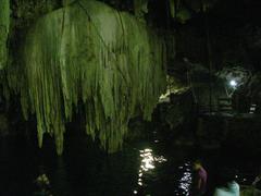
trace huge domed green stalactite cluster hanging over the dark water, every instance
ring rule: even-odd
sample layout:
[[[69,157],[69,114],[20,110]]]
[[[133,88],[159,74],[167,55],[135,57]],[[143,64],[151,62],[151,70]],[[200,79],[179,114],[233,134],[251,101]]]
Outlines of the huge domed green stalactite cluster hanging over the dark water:
[[[82,0],[38,20],[24,69],[9,85],[20,91],[25,118],[36,113],[39,146],[49,133],[62,154],[64,124],[82,101],[86,133],[112,152],[130,118],[150,119],[165,89],[165,53],[164,41],[134,16]]]

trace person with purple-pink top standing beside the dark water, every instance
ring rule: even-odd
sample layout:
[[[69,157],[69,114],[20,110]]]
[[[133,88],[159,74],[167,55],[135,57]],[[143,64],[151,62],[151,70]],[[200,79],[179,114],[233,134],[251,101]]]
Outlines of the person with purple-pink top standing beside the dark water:
[[[207,191],[208,173],[202,167],[200,160],[196,160],[194,162],[194,171],[195,171],[194,192],[197,196],[200,196],[203,195]]]

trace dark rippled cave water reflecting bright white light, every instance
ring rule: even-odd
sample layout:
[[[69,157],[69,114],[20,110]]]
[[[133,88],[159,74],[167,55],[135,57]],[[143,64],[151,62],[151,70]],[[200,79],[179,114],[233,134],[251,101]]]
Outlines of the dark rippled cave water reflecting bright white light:
[[[41,150],[24,138],[2,139],[0,193],[33,195],[42,166],[55,196],[189,196],[195,155],[191,148],[175,147],[170,140],[153,132],[147,139],[125,144],[122,151],[107,155],[84,134],[69,134],[64,155],[57,157],[51,139]],[[203,157],[213,171],[216,157]],[[245,182],[247,177],[238,176]]]

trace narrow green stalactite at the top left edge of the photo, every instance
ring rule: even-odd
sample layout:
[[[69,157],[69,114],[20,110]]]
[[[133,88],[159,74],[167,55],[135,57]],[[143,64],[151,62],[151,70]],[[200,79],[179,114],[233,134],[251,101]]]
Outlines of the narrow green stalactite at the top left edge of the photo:
[[[10,0],[0,0],[0,70],[8,61],[8,35],[10,26]]]

